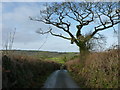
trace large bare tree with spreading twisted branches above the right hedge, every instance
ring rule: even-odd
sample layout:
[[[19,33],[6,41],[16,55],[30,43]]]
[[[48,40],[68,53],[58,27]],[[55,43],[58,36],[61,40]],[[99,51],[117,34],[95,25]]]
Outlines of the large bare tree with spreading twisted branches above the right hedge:
[[[55,26],[66,32],[69,37],[53,33],[52,27],[47,31],[39,31],[40,34],[51,33],[53,36],[70,40],[71,44],[75,43],[79,47],[80,56],[83,57],[89,52],[89,42],[92,39],[99,40],[102,38],[98,32],[111,28],[120,22],[118,19],[120,10],[117,4],[117,2],[49,3],[45,5],[45,10],[40,11],[40,17],[30,17],[30,19]],[[94,24],[94,30],[87,35],[83,35],[83,27],[91,23]],[[75,30],[71,30],[71,26],[73,25],[76,27]]]

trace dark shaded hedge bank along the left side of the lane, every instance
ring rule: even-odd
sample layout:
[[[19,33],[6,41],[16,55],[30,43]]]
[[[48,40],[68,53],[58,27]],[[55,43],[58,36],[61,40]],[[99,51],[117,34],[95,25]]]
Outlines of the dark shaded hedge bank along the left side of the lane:
[[[33,56],[2,56],[2,88],[41,88],[60,64]]]

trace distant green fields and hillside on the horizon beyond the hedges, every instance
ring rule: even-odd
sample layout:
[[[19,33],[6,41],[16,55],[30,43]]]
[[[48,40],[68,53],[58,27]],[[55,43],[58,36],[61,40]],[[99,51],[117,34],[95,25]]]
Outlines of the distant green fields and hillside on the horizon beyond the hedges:
[[[4,51],[5,52],[5,51]],[[72,60],[78,56],[75,52],[49,52],[49,51],[33,51],[33,50],[13,50],[7,51],[10,55],[22,56],[24,58],[34,57],[41,60],[51,60],[64,64],[68,60]]]

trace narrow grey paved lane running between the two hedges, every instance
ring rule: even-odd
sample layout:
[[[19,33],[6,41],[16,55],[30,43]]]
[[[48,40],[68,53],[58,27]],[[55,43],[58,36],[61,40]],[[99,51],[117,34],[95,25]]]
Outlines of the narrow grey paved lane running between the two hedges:
[[[67,70],[57,70],[46,80],[43,88],[79,88]]]

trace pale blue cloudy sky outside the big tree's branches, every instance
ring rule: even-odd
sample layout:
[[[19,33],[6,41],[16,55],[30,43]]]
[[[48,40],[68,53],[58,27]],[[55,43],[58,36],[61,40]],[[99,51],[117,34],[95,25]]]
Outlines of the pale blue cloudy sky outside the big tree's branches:
[[[35,32],[39,28],[46,30],[48,27],[43,23],[29,19],[29,16],[39,16],[39,11],[44,9],[41,2],[4,2],[0,8],[2,8],[2,22],[0,22],[2,31],[0,31],[0,34],[2,34],[3,40],[0,43],[0,49],[3,48],[5,42],[8,40],[10,32],[13,33],[16,28],[13,49],[38,50],[44,44],[40,50],[60,52],[78,51],[78,47],[70,44],[70,41],[51,36],[50,34],[39,35]],[[90,30],[92,26],[88,28]],[[117,26],[115,28],[117,29]],[[102,32],[107,37],[106,48],[117,43],[117,37],[113,33],[113,28],[110,29]]]

